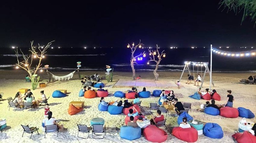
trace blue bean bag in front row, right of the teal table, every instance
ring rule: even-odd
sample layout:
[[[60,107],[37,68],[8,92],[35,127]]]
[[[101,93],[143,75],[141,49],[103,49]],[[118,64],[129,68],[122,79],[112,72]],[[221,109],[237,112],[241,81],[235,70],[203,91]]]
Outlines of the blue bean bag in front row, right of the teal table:
[[[206,123],[203,128],[203,134],[209,138],[223,138],[223,130],[216,123]]]

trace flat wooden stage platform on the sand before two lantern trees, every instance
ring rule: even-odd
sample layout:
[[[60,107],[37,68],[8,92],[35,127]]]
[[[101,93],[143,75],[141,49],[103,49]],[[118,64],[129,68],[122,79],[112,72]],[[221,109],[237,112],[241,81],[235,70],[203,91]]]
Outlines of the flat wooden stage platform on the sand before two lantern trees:
[[[123,80],[119,79],[114,85],[114,88],[119,87],[148,87],[148,88],[178,88],[174,81],[171,80],[158,80],[143,79],[143,80]]]

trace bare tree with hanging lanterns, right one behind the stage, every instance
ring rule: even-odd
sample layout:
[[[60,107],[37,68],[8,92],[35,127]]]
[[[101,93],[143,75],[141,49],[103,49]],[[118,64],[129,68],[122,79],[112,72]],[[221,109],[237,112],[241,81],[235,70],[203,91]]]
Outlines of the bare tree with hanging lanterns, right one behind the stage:
[[[161,54],[159,53],[159,51],[158,51],[158,45],[157,45],[157,51],[153,51],[153,50],[148,50],[148,51],[149,51],[149,55],[153,57],[153,59],[152,59],[152,57],[150,57],[150,60],[148,61],[148,64],[149,64],[150,61],[154,61],[154,62],[157,63],[157,64],[156,64],[156,68],[155,68],[155,70],[153,71],[154,76],[155,76],[155,78],[156,78],[155,80],[157,81],[158,75],[159,75],[159,74],[157,73],[158,65],[159,65],[159,63],[160,63],[161,60],[162,60],[161,57],[165,57],[165,53],[163,53],[164,51],[162,51]],[[157,55],[158,60],[156,60],[155,55]]]

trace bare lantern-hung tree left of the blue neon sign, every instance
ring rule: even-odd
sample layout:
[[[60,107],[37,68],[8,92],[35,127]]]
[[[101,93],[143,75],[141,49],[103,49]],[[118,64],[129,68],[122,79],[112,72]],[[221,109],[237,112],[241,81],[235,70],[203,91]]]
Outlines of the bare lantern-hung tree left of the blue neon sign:
[[[131,67],[132,67],[132,70],[133,70],[133,80],[135,80],[135,69],[134,69],[134,63],[137,63],[137,62],[134,62],[136,61],[136,58],[145,54],[145,51],[143,53],[140,53],[139,55],[136,55],[134,56],[134,52],[136,51],[137,47],[141,48],[141,45],[144,45],[143,43],[141,43],[141,41],[139,42],[139,44],[137,45],[134,45],[134,43],[132,44],[132,46],[130,46],[130,44],[127,45],[127,48],[130,48],[132,50],[132,56],[131,56]]]

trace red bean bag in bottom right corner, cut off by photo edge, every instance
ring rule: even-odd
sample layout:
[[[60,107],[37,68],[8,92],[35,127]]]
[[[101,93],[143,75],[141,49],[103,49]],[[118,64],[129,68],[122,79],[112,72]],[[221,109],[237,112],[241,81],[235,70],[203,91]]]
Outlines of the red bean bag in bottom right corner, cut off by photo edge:
[[[238,143],[256,143],[256,137],[248,131],[244,131],[242,134],[236,133],[232,135],[232,137],[235,138]]]

